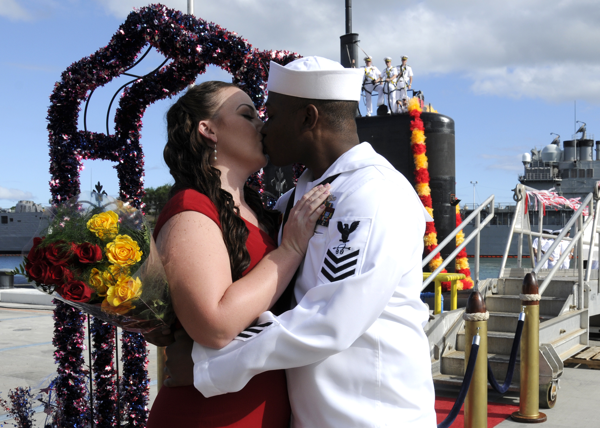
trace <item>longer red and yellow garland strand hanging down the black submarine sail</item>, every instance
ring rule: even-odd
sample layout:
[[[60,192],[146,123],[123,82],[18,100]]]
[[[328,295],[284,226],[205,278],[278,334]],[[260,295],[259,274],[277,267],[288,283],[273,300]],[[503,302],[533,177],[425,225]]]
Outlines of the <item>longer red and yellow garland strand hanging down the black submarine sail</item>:
[[[419,98],[411,98],[408,106],[410,117],[410,148],[413,153],[413,160],[415,161],[415,190],[416,194],[419,195],[421,202],[425,206],[425,209],[433,218],[433,204],[431,203],[431,189],[429,187],[429,171],[427,164],[427,148],[425,147],[425,128],[423,121],[421,120],[421,100]],[[425,223],[425,236],[423,237],[425,243],[425,255],[437,247],[437,231],[436,225],[433,221]],[[436,256],[429,262],[429,268],[431,272],[437,269],[442,264],[442,256],[436,254]],[[442,270],[446,272],[446,270]]]

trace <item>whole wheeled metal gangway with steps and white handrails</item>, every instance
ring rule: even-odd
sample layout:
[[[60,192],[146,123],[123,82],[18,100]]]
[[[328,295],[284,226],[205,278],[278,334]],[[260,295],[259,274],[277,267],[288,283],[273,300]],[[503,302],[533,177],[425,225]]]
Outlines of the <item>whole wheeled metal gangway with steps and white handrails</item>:
[[[600,182],[596,185],[597,190],[594,195],[589,194],[581,207],[577,209],[572,218],[565,226],[565,232],[556,237],[557,240],[571,241],[569,248],[565,251],[571,251],[575,248],[575,254],[583,255],[584,245],[587,245],[586,254],[590,257],[593,251],[598,251],[598,239],[592,230],[598,231],[598,218],[600,217]],[[589,337],[589,319],[591,315],[600,314],[600,299],[598,286],[598,268],[590,269],[590,266],[583,267],[583,257],[577,258],[575,269],[558,269],[558,266],[564,260],[561,257],[558,266],[551,269],[540,269],[550,256],[553,248],[542,257],[538,266],[523,267],[521,254],[519,251],[517,268],[506,267],[508,249],[511,245],[512,235],[519,234],[519,248],[527,245],[523,238],[528,240],[531,247],[532,236],[544,236],[553,238],[555,236],[546,236],[541,230],[532,231],[529,225],[529,215],[527,215],[525,192],[529,190],[523,185],[517,185],[515,188],[515,200],[517,207],[515,217],[511,225],[511,230],[506,243],[506,251],[503,257],[502,267],[500,268],[499,278],[488,278],[478,281],[479,276],[479,231],[491,220],[494,215],[494,195],[491,195],[478,210],[473,211],[463,223],[451,235],[458,233],[468,222],[475,219],[475,230],[466,237],[463,245],[457,247],[442,265],[440,265],[424,281],[423,287],[427,287],[434,277],[447,266],[449,259],[455,257],[467,242],[475,241],[475,269],[472,273],[474,281],[478,284],[479,291],[484,296],[486,309],[490,314],[487,322],[488,327],[488,361],[496,380],[502,384],[505,380],[508,369],[509,355],[511,353],[512,343],[517,328],[519,313],[521,312],[520,293],[523,285],[523,278],[527,273],[535,272],[538,278],[539,294],[541,295],[539,314],[539,384],[540,384],[540,406],[551,407],[556,401],[556,390],[558,378],[563,372],[563,361],[581,349],[586,348]],[[593,201],[592,201],[593,197]],[[595,204],[594,204],[595,202]],[[485,206],[489,206],[488,215],[483,221],[480,221],[480,213]],[[593,213],[593,216],[584,218],[584,207],[587,206],[587,212]],[[593,224],[593,225],[592,225]],[[565,237],[566,230],[575,227],[573,237]],[[589,227],[592,226],[592,227]],[[589,228],[588,228],[589,227]],[[584,233],[587,236],[584,237]],[[454,236],[449,236],[439,247],[451,242]],[[587,239],[587,240],[586,240]],[[557,243],[558,245],[558,243]],[[436,252],[439,249],[436,249]],[[432,252],[433,254],[433,252]],[[532,251],[530,251],[532,254]],[[433,258],[428,255],[423,261],[423,266]],[[529,261],[530,263],[531,261]],[[535,268],[535,269],[534,269]],[[425,332],[430,343],[431,371],[433,380],[436,384],[461,385],[463,382],[463,373],[465,367],[465,332],[463,312],[464,309],[455,309],[453,311],[443,312],[431,311],[430,321],[425,326]],[[517,352],[517,363],[512,378],[510,391],[518,391],[520,388],[520,352]],[[488,387],[491,388],[488,383]]]

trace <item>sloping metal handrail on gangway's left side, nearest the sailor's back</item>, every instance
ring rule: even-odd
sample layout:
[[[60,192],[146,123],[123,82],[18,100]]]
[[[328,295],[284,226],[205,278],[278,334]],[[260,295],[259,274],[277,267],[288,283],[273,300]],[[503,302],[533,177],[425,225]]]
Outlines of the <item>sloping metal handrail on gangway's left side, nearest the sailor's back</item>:
[[[481,211],[488,206],[488,204],[490,205],[490,213],[488,213],[488,215],[485,217],[484,221],[482,221],[481,223],[478,224],[478,220],[480,218],[479,213],[481,213]],[[421,267],[425,267],[427,266],[427,263],[429,263],[431,260],[433,260],[433,258],[436,256],[436,254],[438,254],[440,251],[442,251],[442,249],[448,245],[448,243],[452,240],[455,239],[455,237],[457,236],[457,234],[463,230],[463,228],[469,224],[469,222],[475,218],[475,230],[473,230],[469,236],[465,237],[463,243],[461,243],[461,245],[458,245],[457,248],[452,251],[452,254],[450,254],[448,257],[446,257],[446,260],[444,260],[442,262],[442,264],[440,264],[440,266],[437,267],[436,270],[434,270],[430,276],[428,276],[427,279],[425,279],[425,281],[423,281],[423,285],[421,287],[421,291],[424,290],[425,287],[427,287],[427,285],[430,284],[431,281],[433,281],[434,278],[436,278],[436,276],[442,272],[442,270],[448,266],[448,264],[450,263],[451,260],[453,260],[459,252],[462,251],[462,249],[464,247],[467,246],[467,244],[469,242],[471,242],[473,240],[473,238],[477,237],[476,242],[475,242],[475,278],[473,278],[473,282],[475,282],[475,290],[478,289],[478,282],[479,282],[479,232],[482,230],[482,228],[485,227],[485,225],[487,225],[491,219],[494,218],[494,195],[490,195],[476,210],[474,210],[472,213],[470,213],[470,215],[464,219],[464,221],[458,225],[457,228],[455,228],[451,233],[448,234],[448,236],[446,237],[446,239],[444,239],[439,245],[437,245],[436,249],[434,249],[432,252],[430,252],[430,254],[427,255],[427,257],[425,257],[423,259],[422,265]]]

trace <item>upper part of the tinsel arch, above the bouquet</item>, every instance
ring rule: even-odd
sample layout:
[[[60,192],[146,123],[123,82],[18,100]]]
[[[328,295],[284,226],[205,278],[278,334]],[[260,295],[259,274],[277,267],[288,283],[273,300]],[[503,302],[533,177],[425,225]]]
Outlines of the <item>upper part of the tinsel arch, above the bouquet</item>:
[[[79,131],[81,103],[91,91],[125,73],[146,45],[172,62],[152,79],[139,79],[124,89],[115,113],[115,134]],[[144,156],[139,139],[142,116],[150,104],[178,94],[205,72],[206,65],[214,64],[233,74],[233,83],[263,111],[268,62],[284,65],[296,58],[297,54],[288,51],[259,51],[236,33],[163,5],[131,12],[107,46],[62,73],[50,96],[53,201],[59,203],[79,191],[83,159],[106,159],[118,162],[121,197],[143,208]]]

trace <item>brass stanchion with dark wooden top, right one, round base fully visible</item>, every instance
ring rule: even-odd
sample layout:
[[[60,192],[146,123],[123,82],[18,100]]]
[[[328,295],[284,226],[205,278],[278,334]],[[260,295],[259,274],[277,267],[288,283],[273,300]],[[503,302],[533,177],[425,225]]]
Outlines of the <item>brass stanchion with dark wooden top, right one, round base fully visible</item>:
[[[523,279],[521,305],[525,324],[521,333],[521,391],[519,411],[511,415],[521,423],[545,422],[547,417],[539,411],[539,287],[535,273]]]

